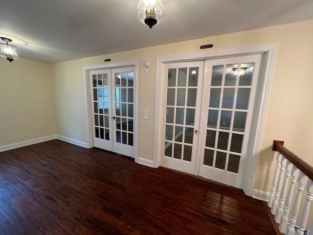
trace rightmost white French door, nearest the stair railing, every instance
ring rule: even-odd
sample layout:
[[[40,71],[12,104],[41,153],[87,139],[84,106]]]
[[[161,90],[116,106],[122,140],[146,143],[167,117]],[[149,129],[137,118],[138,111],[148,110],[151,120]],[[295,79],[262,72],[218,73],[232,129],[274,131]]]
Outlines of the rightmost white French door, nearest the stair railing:
[[[199,175],[243,188],[261,55],[206,61]]]

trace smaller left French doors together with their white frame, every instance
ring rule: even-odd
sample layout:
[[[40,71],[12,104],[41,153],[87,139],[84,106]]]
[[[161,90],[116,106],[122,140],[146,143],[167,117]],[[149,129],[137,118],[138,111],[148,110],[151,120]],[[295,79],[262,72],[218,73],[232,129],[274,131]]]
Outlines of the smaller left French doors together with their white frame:
[[[138,158],[138,62],[84,68],[89,147]]]

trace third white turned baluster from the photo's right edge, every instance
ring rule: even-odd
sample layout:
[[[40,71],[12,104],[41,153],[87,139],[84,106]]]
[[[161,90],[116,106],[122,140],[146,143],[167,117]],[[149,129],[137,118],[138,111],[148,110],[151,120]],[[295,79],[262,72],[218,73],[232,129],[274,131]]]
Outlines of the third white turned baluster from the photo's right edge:
[[[291,171],[291,185],[288,190],[286,202],[285,202],[285,207],[284,207],[284,213],[283,216],[280,220],[279,223],[279,231],[282,232],[283,234],[286,233],[287,225],[288,225],[288,217],[289,217],[289,212],[290,212],[290,207],[291,207],[291,202],[292,202],[292,197],[293,197],[293,191],[294,191],[294,186],[295,183],[297,182],[298,176],[299,176],[300,170],[295,167],[294,165],[292,166],[292,171]]]

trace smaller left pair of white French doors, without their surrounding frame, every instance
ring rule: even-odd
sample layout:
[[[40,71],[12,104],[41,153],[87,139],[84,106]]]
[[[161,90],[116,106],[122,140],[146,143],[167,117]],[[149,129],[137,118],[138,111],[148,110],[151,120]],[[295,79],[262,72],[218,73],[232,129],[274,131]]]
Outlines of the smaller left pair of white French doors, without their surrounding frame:
[[[134,67],[89,74],[94,146],[134,157]]]

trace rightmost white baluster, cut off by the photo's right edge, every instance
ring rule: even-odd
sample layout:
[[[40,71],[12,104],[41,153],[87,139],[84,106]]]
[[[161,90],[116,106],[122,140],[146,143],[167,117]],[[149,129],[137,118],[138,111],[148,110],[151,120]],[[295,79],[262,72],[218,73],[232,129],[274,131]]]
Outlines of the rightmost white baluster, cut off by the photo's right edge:
[[[307,185],[307,196],[306,201],[303,206],[303,210],[299,220],[299,229],[297,230],[297,235],[304,235],[304,231],[307,227],[308,217],[311,207],[311,202],[313,201],[313,182],[312,180],[308,181]]]

